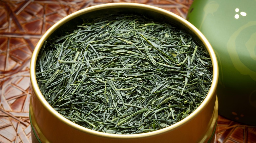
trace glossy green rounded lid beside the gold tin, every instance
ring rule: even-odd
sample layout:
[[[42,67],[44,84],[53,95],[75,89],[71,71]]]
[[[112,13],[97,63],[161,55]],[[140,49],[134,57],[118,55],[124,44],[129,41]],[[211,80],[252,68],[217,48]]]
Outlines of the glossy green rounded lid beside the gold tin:
[[[194,0],[187,20],[219,63],[219,114],[256,125],[256,0]]]

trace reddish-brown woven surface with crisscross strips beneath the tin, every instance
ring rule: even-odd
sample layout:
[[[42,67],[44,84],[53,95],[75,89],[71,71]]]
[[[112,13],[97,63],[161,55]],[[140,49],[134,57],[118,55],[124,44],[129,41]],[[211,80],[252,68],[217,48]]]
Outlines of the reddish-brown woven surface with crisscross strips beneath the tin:
[[[31,142],[29,64],[42,34],[79,9],[111,2],[153,5],[185,18],[193,0],[0,1],[0,142]],[[219,116],[217,141],[256,142],[256,128]]]

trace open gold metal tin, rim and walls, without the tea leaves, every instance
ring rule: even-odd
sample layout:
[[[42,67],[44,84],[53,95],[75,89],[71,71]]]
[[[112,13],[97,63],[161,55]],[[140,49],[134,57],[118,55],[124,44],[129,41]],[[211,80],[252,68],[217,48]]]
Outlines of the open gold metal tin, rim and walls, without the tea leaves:
[[[44,99],[39,90],[35,77],[35,65],[37,55],[43,42],[49,38],[59,27],[65,25],[76,17],[84,15],[91,15],[91,17],[99,15],[101,12],[130,10],[136,12],[150,13],[156,18],[164,16],[170,21],[194,35],[209,52],[213,64],[213,79],[211,88],[204,99],[203,103],[188,117],[175,123],[169,127],[142,134],[135,135],[116,135],[93,131],[82,126],[79,126],[70,120],[64,118],[57,113],[50,104]],[[92,15],[93,14],[93,15]],[[207,132],[207,127],[212,121],[215,112],[216,104],[216,86],[218,81],[218,65],[217,59],[210,43],[206,40],[203,34],[192,24],[173,14],[167,10],[156,8],[149,5],[135,4],[135,3],[110,3],[92,6],[79,10],[73,14],[68,15],[56,24],[54,24],[39,40],[36,45],[31,58],[30,65],[31,78],[31,113],[32,123],[37,131],[38,137],[41,140],[49,142],[199,142]]]

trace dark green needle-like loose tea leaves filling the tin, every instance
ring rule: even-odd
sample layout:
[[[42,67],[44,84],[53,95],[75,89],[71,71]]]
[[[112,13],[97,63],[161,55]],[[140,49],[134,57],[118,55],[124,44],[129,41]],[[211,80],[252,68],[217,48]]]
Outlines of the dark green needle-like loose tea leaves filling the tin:
[[[212,63],[183,30],[112,14],[46,41],[36,76],[65,118],[105,133],[138,134],[193,112],[211,86]]]

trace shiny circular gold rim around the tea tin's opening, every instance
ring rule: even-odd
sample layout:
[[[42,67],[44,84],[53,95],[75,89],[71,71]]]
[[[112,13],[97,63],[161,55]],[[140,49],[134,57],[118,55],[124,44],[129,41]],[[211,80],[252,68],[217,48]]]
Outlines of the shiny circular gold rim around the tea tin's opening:
[[[209,90],[208,94],[206,95],[205,99],[203,100],[201,105],[196,110],[194,110],[188,117],[186,117],[185,119],[182,119],[181,121],[179,121],[173,125],[170,125],[169,127],[166,127],[166,128],[163,128],[163,129],[160,129],[157,131],[148,132],[148,133],[133,134],[133,135],[110,134],[110,133],[94,131],[94,130],[82,127],[76,123],[73,123],[72,121],[66,119],[61,114],[59,114],[57,111],[55,111],[52,108],[52,106],[45,100],[45,98],[43,97],[43,95],[38,87],[36,76],[35,76],[35,65],[36,65],[37,55],[39,54],[39,51],[40,51],[44,41],[53,33],[53,31],[55,31],[57,28],[59,28],[61,25],[65,24],[66,22],[72,20],[73,18],[78,17],[78,16],[83,15],[88,12],[107,9],[107,8],[138,8],[138,9],[144,9],[144,10],[151,10],[153,12],[157,12],[157,13],[166,15],[166,16],[176,20],[177,22],[183,24],[184,26],[186,26],[193,33],[195,33],[195,35],[202,41],[202,43],[206,47],[206,50],[208,51],[208,53],[211,57],[211,60],[212,60],[213,79],[212,79],[212,84],[211,84],[210,90]],[[133,139],[133,138],[143,138],[143,137],[152,136],[152,135],[159,135],[161,133],[165,133],[165,132],[171,131],[175,128],[178,128],[179,126],[184,125],[187,121],[195,118],[196,115],[199,114],[201,112],[201,110],[207,105],[207,103],[209,103],[211,98],[213,98],[216,88],[217,88],[218,72],[219,71],[218,71],[217,58],[213,51],[213,48],[211,47],[208,40],[204,37],[204,35],[194,25],[192,25],[191,23],[189,23],[182,17],[180,17],[170,11],[164,10],[162,8],[157,8],[154,6],[149,6],[149,5],[144,5],[144,4],[136,4],[136,3],[101,4],[101,5],[96,5],[96,6],[92,6],[89,8],[84,8],[84,9],[78,10],[78,11],[64,17],[63,19],[58,21],[56,24],[54,24],[49,30],[47,30],[46,33],[42,36],[42,38],[38,41],[38,43],[33,51],[33,54],[31,57],[31,63],[30,63],[30,78],[31,78],[32,90],[35,92],[35,96],[37,97],[37,99],[43,104],[43,106],[51,114],[53,114],[57,119],[59,119],[63,123],[75,128],[81,132],[91,134],[91,135],[107,137],[107,138],[116,138],[116,139]]]

